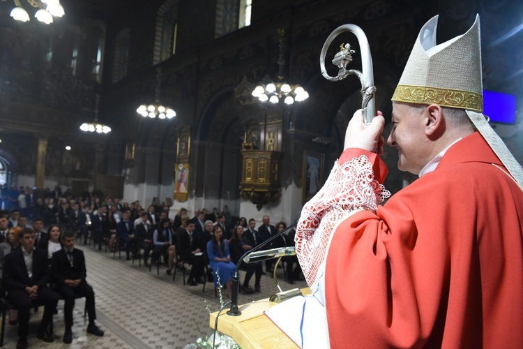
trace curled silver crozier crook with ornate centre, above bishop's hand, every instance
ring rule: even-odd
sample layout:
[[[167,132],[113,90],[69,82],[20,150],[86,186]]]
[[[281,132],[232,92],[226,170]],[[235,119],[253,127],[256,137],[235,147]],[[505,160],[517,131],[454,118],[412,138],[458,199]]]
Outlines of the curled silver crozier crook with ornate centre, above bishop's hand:
[[[361,68],[363,73],[354,69],[347,70],[347,64],[352,61],[354,50],[351,50],[351,45],[342,44],[340,52],[335,54],[333,59],[333,64],[338,66],[340,70],[338,70],[338,76],[332,77],[327,74],[327,70],[325,69],[325,55],[334,38],[344,31],[354,33],[358,39],[361,50]],[[329,81],[342,80],[347,77],[347,75],[351,74],[355,74],[358,77],[361,82],[361,95],[363,96],[363,101],[361,101],[363,120],[365,120],[365,124],[370,124],[372,118],[376,116],[376,107],[374,105],[374,92],[376,91],[376,87],[374,87],[374,73],[372,73],[372,57],[370,57],[369,42],[367,36],[363,33],[363,30],[354,24],[344,24],[336,28],[331,35],[328,36],[324,43],[324,47],[321,48],[319,66],[321,68],[321,75],[324,75],[324,77]]]

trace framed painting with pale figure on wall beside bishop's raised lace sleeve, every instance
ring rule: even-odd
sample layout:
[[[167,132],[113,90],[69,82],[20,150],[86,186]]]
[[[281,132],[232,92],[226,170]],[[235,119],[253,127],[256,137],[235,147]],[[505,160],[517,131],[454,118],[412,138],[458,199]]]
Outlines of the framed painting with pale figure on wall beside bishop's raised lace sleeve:
[[[303,152],[303,174],[301,202],[308,202],[323,185],[324,154],[314,151]]]

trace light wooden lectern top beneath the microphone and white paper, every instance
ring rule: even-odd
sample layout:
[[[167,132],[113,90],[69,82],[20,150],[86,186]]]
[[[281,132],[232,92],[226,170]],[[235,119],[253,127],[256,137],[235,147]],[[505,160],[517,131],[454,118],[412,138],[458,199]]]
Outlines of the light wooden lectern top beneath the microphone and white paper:
[[[310,295],[309,288],[301,289],[303,295]],[[289,339],[287,334],[282,332],[278,326],[264,314],[264,311],[271,309],[278,303],[270,302],[268,298],[256,302],[239,306],[241,315],[229,316],[227,308],[218,318],[218,332],[232,337],[238,346],[244,348],[298,348]],[[218,311],[211,313],[209,326],[214,328]]]

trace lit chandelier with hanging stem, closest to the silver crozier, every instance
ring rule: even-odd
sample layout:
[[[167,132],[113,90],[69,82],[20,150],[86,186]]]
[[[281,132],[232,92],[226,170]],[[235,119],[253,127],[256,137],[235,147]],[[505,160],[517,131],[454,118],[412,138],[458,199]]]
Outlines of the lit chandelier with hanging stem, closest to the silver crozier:
[[[309,94],[299,84],[289,84],[285,82],[285,54],[287,52],[287,45],[285,44],[285,29],[278,29],[280,36],[279,49],[280,56],[278,57],[278,81],[268,82],[266,84],[259,84],[252,91],[252,96],[258,98],[261,102],[270,103],[283,103],[291,105],[295,101],[303,102],[309,98]],[[270,80],[268,75],[264,77],[264,80]]]

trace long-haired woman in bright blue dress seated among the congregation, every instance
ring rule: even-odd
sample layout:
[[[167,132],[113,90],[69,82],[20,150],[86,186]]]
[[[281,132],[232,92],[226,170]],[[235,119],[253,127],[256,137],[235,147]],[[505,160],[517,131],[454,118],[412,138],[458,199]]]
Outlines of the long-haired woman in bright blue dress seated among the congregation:
[[[215,225],[213,228],[213,238],[207,243],[207,255],[211,268],[213,268],[214,285],[218,287],[218,277],[220,276],[220,284],[225,285],[227,298],[232,295],[232,276],[236,270],[236,265],[231,262],[231,254],[229,253],[229,244],[227,240],[223,239],[223,231],[220,225]]]

